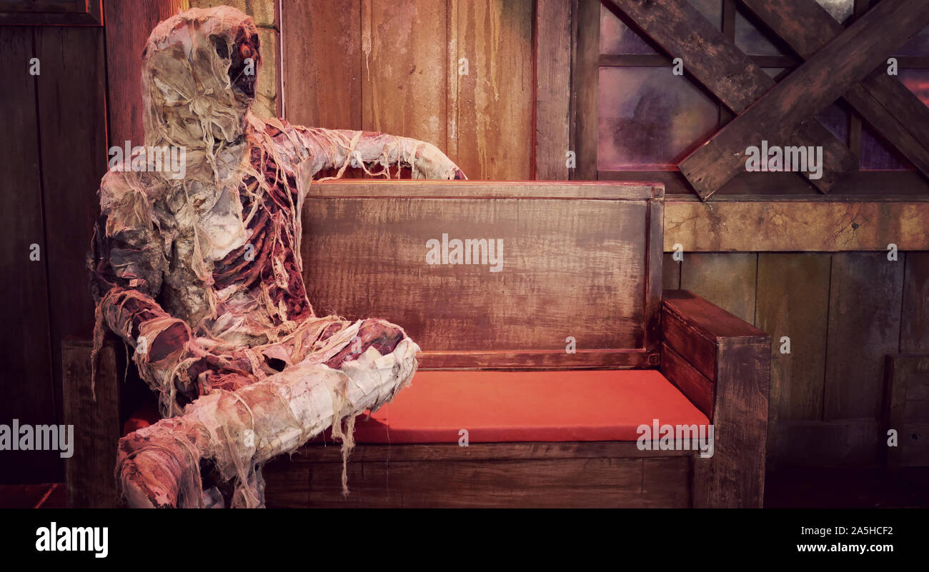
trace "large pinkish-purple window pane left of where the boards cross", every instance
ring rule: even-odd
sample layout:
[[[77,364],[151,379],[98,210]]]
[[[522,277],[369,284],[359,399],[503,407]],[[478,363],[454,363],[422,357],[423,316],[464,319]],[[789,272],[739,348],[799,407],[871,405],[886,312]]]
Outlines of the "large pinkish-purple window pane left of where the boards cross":
[[[671,68],[600,68],[598,168],[673,165],[716,131],[710,97]]]

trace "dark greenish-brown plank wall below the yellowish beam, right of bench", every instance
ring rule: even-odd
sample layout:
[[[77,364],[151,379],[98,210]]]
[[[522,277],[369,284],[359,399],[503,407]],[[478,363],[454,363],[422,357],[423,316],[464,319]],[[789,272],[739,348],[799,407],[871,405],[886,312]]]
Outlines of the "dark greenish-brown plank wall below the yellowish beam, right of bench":
[[[665,288],[771,334],[770,469],[883,461],[885,356],[929,353],[929,253],[666,253],[664,264]]]

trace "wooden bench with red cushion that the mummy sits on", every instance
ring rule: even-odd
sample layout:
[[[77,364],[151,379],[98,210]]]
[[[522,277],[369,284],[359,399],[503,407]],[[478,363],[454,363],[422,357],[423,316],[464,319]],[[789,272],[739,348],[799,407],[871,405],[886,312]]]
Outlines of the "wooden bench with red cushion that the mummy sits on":
[[[412,385],[356,423],[347,497],[339,448],[320,439],[266,465],[268,506],[760,507],[770,338],[691,293],[662,296],[662,223],[655,184],[314,185],[301,254],[317,314],[386,318],[423,353]],[[478,264],[426,263],[428,241],[441,263],[455,239],[502,241],[503,257],[484,264],[471,242]],[[69,498],[110,506],[140,398],[108,345],[92,401],[88,353],[65,345],[67,422],[86,428]],[[656,419],[712,423],[713,456],[643,450]]]

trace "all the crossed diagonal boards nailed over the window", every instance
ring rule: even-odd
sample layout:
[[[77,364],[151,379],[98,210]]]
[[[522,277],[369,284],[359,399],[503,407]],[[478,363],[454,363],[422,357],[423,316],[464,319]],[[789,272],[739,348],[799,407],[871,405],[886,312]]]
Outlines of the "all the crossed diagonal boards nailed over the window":
[[[739,0],[805,62],[776,83],[687,0],[604,0],[622,11],[727,108],[737,114],[678,168],[707,199],[745,167],[745,151],[821,146],[828,193],[857,158],[814,118],[844,99],[929,176],[929,109],[886,73],[886,58],[929,24],[926,0],[883,0],[844,28],[815,0]]]

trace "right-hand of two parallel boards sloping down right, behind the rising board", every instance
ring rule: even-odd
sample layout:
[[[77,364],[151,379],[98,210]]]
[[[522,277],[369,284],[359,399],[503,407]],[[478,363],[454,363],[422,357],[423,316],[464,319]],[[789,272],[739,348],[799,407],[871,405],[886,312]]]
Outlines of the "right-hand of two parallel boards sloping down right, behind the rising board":
[[[814,0],[742,0],[742,4],[808,59],[842,33],[842,24]],[[929,176],[929,108],[879,67],[844,98],[909,161]]]

